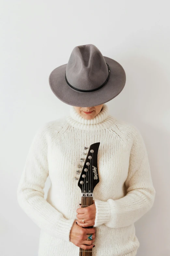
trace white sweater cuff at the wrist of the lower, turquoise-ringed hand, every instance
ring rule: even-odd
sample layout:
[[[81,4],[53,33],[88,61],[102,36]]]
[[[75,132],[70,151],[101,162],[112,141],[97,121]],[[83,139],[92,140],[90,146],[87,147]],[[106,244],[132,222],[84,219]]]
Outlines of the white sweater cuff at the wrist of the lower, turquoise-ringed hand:
[[[70,231],[74,224],[75,219],[65,219],[62,218],[57,225],[56,237],[64,239],[67,242],[70,242]]]

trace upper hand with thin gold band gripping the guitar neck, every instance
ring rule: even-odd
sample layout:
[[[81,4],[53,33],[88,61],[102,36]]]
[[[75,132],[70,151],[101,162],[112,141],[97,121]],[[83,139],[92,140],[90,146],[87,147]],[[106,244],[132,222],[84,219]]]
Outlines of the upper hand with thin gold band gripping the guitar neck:
[[[96,206],[95,206],[94,200],[92,205],[78,208],[76,212],[78,213],[76,215],[77,216],[76,221],[79,226],[84,228],[94,226],[95,216],[96,216]],[[84,223],[82,219],[84,219]]]

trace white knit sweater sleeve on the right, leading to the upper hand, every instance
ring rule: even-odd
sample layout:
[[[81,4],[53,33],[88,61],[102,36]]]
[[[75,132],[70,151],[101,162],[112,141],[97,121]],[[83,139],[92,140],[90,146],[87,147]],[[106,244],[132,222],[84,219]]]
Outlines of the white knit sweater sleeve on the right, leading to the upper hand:
[[[128,177],[125,181],[127,193],[116,200],[94,199],[96,206],[94,227],[102,224],[110,228],[129,226],[147,213],[153,205],[156,191],[151,179],[146,146],[139,130],[135,128],[133,131]]]

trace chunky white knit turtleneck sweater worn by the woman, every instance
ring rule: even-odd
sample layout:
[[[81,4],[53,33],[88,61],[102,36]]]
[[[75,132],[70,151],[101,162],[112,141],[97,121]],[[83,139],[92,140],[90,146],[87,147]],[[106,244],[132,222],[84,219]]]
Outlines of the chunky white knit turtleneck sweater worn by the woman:
[[[70,114],[41,126],[30,146],[17,190],[23,211],[41,228],[38,256],[79,256],[69,240],[81,203],[76,173],[84,146],[100,142],[99,183],[93,191],[96,238],[92,256],[135,256],[139,241],[134,223],[154,202],[147,150],[132,124],[117,120],[108,106],[86,120]],[[80,169],[79,169],[80,170]],[[51,186],[47,199],[44,186]]]

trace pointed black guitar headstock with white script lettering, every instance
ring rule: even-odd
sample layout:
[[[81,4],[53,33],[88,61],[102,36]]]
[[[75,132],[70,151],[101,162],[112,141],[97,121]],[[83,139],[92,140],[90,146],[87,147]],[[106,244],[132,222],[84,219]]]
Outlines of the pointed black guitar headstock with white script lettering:
[[[78,186],[82,193],[93,193],[94,187],[99,183],[98,169],[97,169],[97,155],[100,142],[90,145],[86,160],[82,167]],[[83,183],[82,183],[83,182]],[[92,196],[92,195],[87,195]]]

